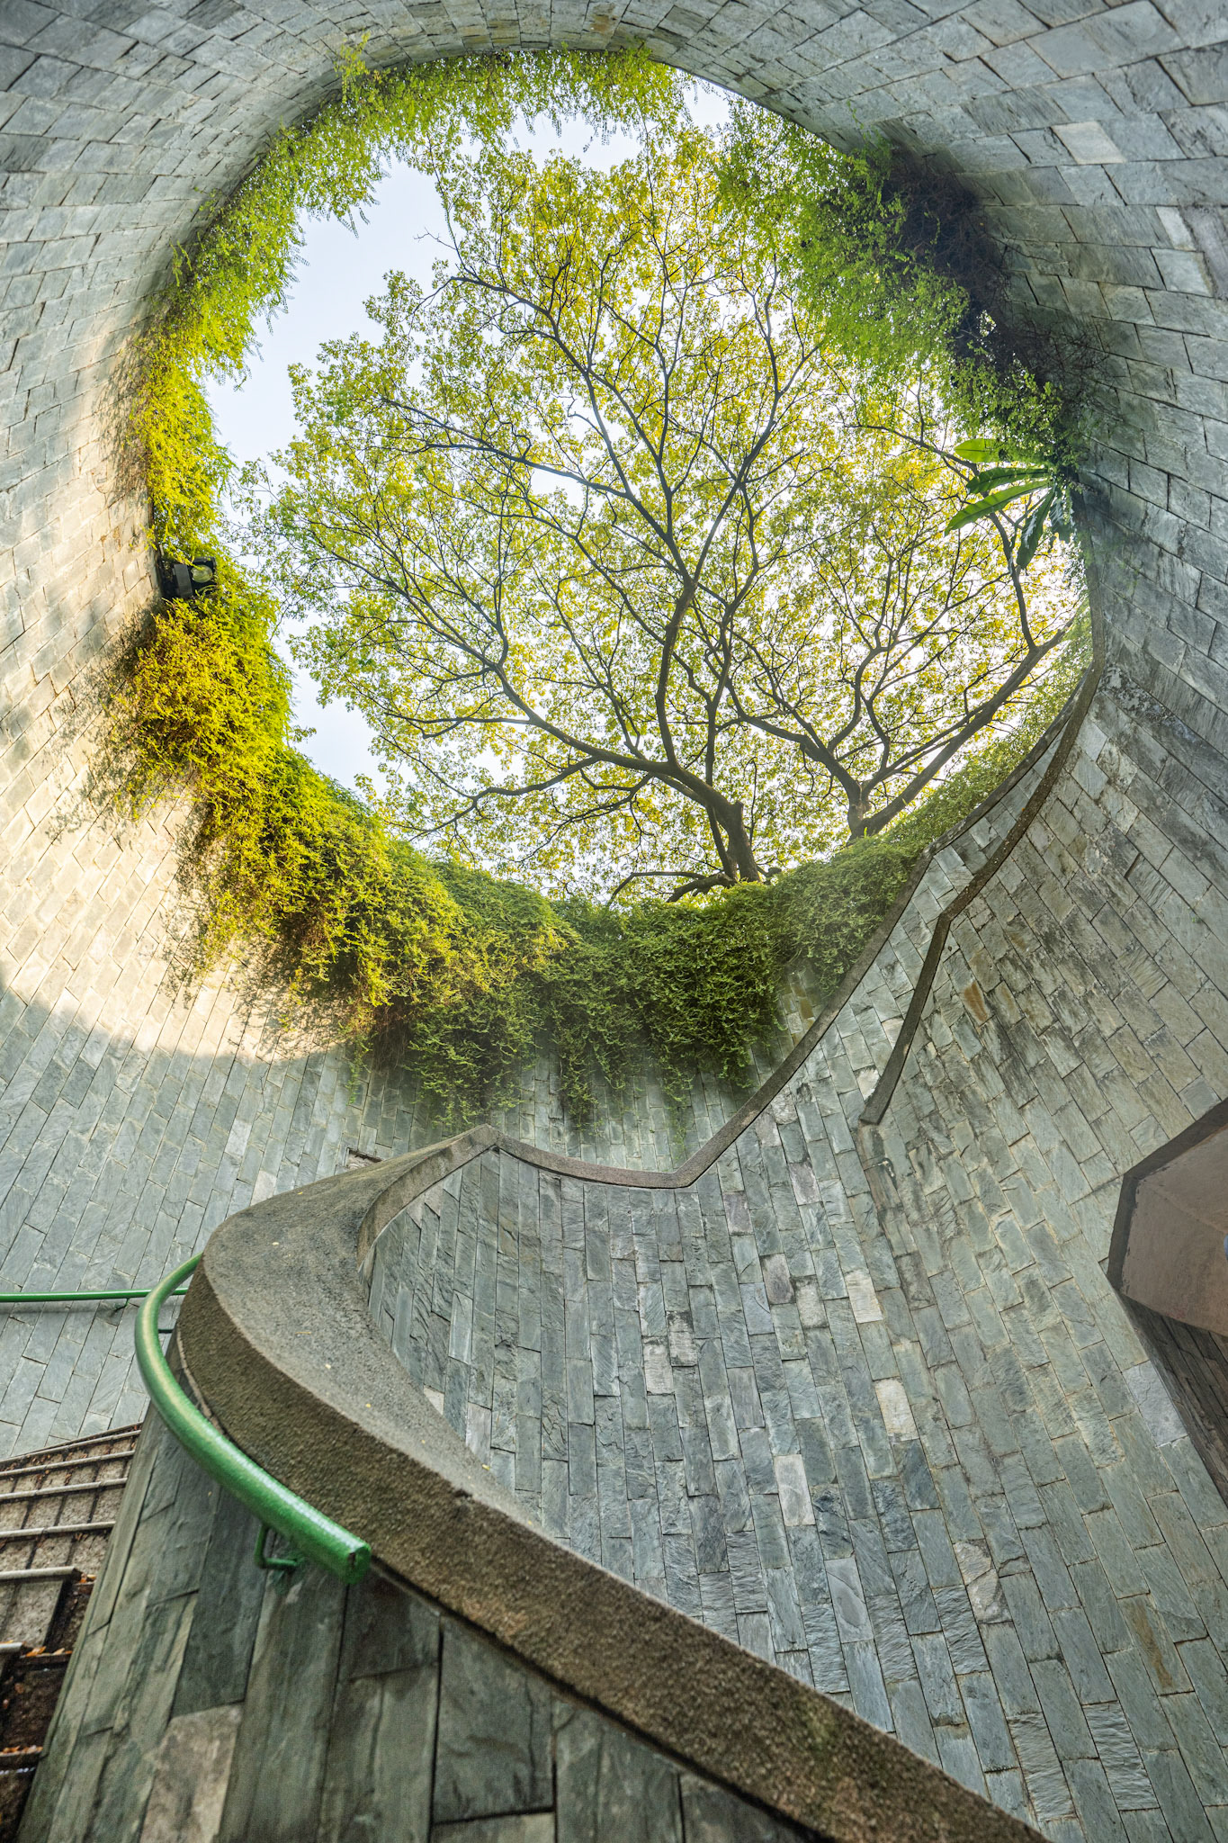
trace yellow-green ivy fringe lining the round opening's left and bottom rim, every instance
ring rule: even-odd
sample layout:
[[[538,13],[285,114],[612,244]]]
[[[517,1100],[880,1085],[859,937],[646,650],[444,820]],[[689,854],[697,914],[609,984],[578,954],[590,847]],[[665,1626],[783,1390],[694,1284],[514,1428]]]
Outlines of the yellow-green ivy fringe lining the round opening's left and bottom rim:
[[[504,136],[519,109],[619,127],[679,107],[674,74],[641,53],[346,68],[341,96],[282,131],[180,252],[133,359],[131,431],[155,536],[169,555],[217,555],[219,581],[195,603],[156,605],[120,663],[110,726],[123,798],[140,813],[168,792],[191,796],[197,969],[254,955],[287,1010],[322,1008],[339,1036],[398,1058],[447,1126],[510,1098],[543,1043],[578,1121],[595,1078],[619,1089],[644,1056],[676,1108],[698,1071],[742,1084],[753,1045],[771,1034],[784,969],[808,962],[819,997],[840,984],[919,851],[1022,757],[1083,663],[1068,649],[1022,726],[887,833],[705,903],[549,903],[431,861],[295,750],[278,610],[226,555],[219,507],[232,463],[204,385],[241,376],[258,317],[285,304],[302,214],[352,217],[390,157],[412,157],[423,136]]]

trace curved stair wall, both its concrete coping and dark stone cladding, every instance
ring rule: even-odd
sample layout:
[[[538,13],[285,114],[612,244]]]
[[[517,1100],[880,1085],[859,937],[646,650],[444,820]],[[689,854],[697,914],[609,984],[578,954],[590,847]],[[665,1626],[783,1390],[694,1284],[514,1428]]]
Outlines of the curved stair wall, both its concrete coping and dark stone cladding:
[[[188,1386],[344,1508],[377,1572],[306,1570],[282,1596],[252,1519],[151,1415],[22,1843],[1024,1843],[858,1716],[552,1543],[405,1377],[359,1255],[390,1181],[468,1150],[274,1198],[210,1242]]]

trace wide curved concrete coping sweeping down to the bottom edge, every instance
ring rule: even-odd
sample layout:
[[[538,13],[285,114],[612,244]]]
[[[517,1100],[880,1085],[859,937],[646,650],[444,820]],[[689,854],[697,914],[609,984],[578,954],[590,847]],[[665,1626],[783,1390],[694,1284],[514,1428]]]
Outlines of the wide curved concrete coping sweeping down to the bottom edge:
[[[740,1797],[830,1843],[1035,1843],[893,1736],[552,1541],[411,1382],[368,1318],[359,1233],[381,1198],[403,1207],[490,1143],[466,1135],[225,1222],[179,1321],[201,1403],[289,1489],[363,1530],[381,1568]]]

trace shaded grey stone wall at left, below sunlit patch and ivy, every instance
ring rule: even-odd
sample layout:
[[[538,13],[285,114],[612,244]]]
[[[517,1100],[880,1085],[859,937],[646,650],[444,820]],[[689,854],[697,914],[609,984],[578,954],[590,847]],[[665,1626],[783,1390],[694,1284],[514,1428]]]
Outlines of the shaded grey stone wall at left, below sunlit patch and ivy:
[[[147,960],[147,957],[144,957]],[[142,977],[145,964],[133,960]],[[442,1137],[396,1071],[355,1069],[342,1049],[278,1054],[234,993],[204,986],[105,1001],[68,992],[24,1003],[0,988],[0,1283],[4,1290],[149,1286],[249,1203],[346,1168],[350,1150],[392,1157]],[[105,988],[103,988],[105,990]],[[129,1017],[123,1003],[129,1001]],[[120,1023],[99,1023],[110,1014]],[[696,1084],[687,1148],[736,1098]],[[495,1115],[517,1139],[624,1167],[670,1168],[678,1137],[655,1086],[608,1119],[567,1126],[547,1065]],[[134,1309],[7,1312],[0,1323],[0,1456],[138,1419]]]

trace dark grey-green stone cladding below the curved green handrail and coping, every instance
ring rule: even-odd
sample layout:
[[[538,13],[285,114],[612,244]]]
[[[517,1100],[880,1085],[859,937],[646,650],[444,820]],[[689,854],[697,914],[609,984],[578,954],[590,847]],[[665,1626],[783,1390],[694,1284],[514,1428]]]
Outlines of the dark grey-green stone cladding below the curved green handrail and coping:
[[[801,1839],[396,1581],[285,1591],[256,1528],[153,1419],[26,1843]]]

